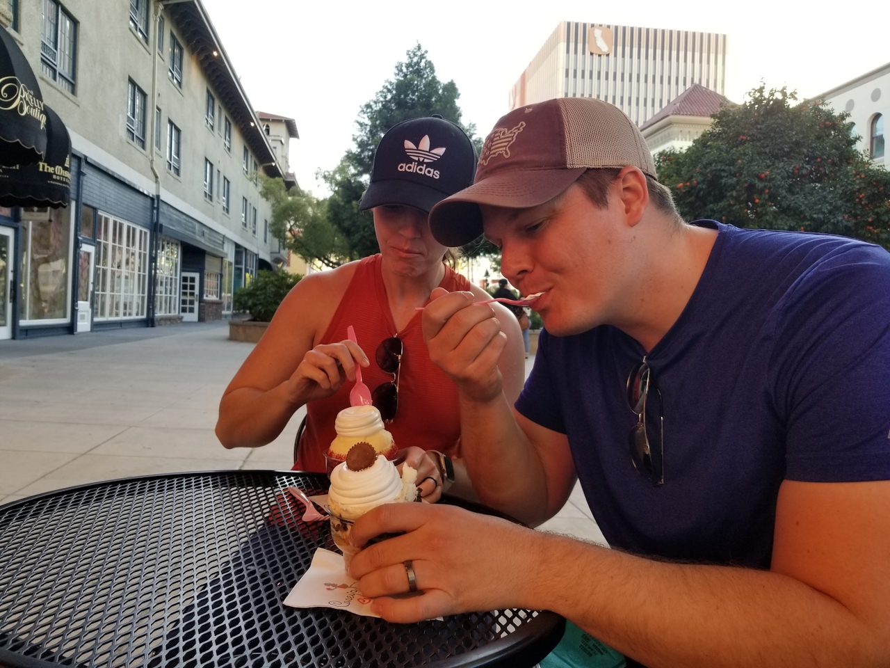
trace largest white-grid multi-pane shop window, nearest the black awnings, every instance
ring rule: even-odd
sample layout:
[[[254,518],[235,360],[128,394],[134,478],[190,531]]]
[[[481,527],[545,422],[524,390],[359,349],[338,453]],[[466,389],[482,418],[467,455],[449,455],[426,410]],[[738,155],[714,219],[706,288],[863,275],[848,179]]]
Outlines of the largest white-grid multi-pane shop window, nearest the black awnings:
[[[144,318],[149,231],[100,214],[96,232],[93,320]]]

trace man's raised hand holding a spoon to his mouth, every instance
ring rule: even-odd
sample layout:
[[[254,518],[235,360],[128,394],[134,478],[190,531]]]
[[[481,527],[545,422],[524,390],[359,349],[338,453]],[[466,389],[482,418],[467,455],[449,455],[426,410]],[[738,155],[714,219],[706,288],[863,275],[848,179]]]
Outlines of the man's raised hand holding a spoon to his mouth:
[[[436,288],[426,305],[423,330],[433,360],[466,398],[489,402],[501,394],[498,359],[506,347],[494,309],[473,304],[472,292]]]

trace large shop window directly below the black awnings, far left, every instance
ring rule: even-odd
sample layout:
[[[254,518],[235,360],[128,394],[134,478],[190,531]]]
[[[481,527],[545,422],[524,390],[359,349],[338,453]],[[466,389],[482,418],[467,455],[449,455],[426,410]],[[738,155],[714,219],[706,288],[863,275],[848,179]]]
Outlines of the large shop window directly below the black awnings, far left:
[[[71,213],[66,208],[24,209],[21,215],[19,320],[68,322],[70,315]]]

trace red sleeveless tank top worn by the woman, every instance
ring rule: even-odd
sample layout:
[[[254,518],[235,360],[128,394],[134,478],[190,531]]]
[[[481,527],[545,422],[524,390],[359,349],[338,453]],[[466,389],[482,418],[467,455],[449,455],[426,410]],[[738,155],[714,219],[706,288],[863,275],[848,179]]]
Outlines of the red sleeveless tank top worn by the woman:
[[[460,436],[457,388],[430,360],[419,312],[404,330],[395,330],[380,272],[381,260],[378,254],[360,261],[320,343],[343,341],[346,328],[352,325],[361,349],[371,361],[371,365],[361,371],[361,376],[373,392],[378,385],[392,380],[391,373],[384,373],[377,366],[374,357],[377,346],[384,338],[401,338],[399,410],[395,419],[386,423],[386,428],[400,448],[417,445],[424,450],[441,450],[456,457]],[[439,287],[449,292],[469,290],[470,282],[446,266]],[[324,453],[336,436],[334,420],[339,411],[349,406],[352,385],[346,382],[335,395],[306,405],[306,428],[300,439],[294,470],[324,472]]]

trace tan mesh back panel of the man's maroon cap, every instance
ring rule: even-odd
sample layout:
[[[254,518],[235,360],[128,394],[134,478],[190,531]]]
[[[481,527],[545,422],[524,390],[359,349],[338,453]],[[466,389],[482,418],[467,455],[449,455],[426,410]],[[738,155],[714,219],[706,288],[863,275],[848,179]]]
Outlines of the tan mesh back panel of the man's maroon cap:
[[[639,167],[655,176],[643,135],[630,118],[608,102],[560,98],[565,125],[566,167]]]

